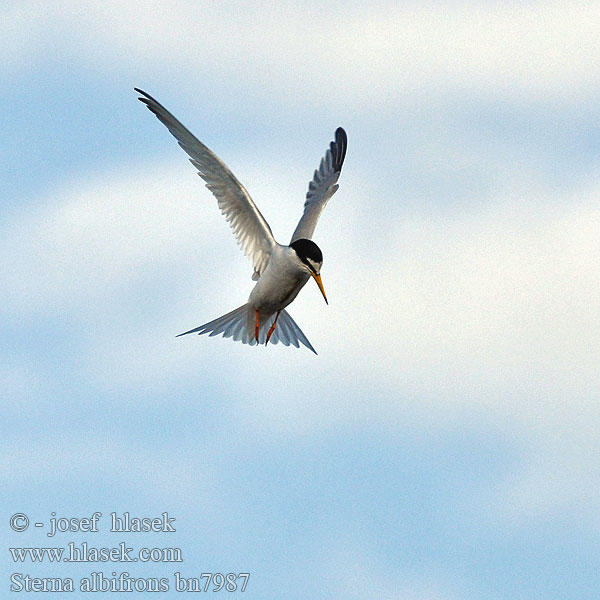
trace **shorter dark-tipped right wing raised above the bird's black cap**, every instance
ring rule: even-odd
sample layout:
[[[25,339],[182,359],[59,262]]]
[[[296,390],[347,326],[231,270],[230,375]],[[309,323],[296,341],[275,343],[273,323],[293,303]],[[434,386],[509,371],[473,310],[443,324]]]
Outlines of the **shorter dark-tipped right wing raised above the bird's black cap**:
[[[325,156],[321,159],[319,168],[315,171],[312,181],[308,184],[304,214],[298,222],[292,235],[292,242],[300,238],[310,240],[317,226],[317,221],[327,204],[327,201],[337,192],[337,180],[342,171],[348,138],[346,132],[338,127],[335,132],[335,142],[329,144]],[[290,242],[291,243],[291,242]]]

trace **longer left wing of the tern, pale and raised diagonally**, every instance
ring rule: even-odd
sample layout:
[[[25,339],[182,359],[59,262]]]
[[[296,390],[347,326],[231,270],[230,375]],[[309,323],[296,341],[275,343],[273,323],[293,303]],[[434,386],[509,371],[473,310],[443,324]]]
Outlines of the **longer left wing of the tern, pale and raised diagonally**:
[[[265,218],[254,204],[246,188],[236,179],[227,165],[188,131],[162,104],[150,94],[134,88],[143,102],[163,123],[179,145],[187,152],[190,162],[215,195],[221,212],[231,225],[238,244],[254,265],[255,278],[266,269],[271,249],[276,244]]]

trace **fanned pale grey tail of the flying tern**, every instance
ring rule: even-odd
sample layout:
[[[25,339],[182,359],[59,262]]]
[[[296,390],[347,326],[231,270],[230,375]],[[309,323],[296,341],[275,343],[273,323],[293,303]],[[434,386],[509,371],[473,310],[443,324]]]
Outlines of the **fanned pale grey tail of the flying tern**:
[[[251,314],[252,313],[252,314]],[[273,324],[275,315],[272,315],[268,319],[264,319],[261,323],[260,330],[258,333],[259,342],[264,344],[267,340],[267,331]],[[197,333],[202,335],[207,333],[210,337],[223,334],[225,338],[232,338],[235,342],[242,342],[243,344],[249,344],[250,346],[256,345],[256,339],[254,337],[254,311],[250,309],[249,304],[244,304],[227,314],[209,321],[204,325],[190,329],[184,333],[180,333],[177,337],[187,335],[188,333]],[[300,344],[304,344],[309,350],[317,353],[312,347],[308,338],[302,333],[302,330],[290,314],[282,310],[277,320],[277,326],[275,327],[271,339],[269,340],[272,344],[281,342],[284,346],[294,345],[296,348],[300,347]]]

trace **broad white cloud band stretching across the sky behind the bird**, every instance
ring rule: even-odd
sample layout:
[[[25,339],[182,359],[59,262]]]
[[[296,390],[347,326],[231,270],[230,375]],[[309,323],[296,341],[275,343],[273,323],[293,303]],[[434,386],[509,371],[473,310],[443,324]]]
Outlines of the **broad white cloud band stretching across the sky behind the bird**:
[[[443,144],[437,152],[447,154]],[[223,156],[285,241],[299,201],[282,198],[300,198],[306,174],[273,167],[274,149],[261,183],[262,158]],[[497,160],[506,167],[506,157]],[[69,368],[93,389],[121,390],[124,402],[132,389],[202,389],[219,373],[232,421],[272,435],[340,424],[507,428],[530,462],[494,490],[496,514],[578,502],[593,520],[598,474],[581,449],[600,421],[597,183],[546,188],[535,173],[504,168],[510,184],[494,179],[483,203],[433,210],[399,202],[379,161],[369,172],[361,164],[345,173],[317,230],[331,305],[309,284],[291,308],[319,357],[174,340],[244,302],[252,285],[248,261],[183,157],[98,169],[9,215],[0,306],[11,333],[61,322],[78,340]],[[384,198],[375,214],[373,185]],[[20,399],[52,378],[18,355],[4,365],[6,389]]]

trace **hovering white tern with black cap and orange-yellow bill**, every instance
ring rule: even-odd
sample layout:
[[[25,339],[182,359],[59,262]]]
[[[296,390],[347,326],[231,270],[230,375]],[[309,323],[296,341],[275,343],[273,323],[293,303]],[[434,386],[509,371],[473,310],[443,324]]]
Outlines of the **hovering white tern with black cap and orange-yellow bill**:
[[[290,243],[284,245],[275,241],[269,224],[227,165],[150,94],[139,88],[134,90],[188,154],[254,267],[252,280],[256,284],[245,304],[177,337],[190,333],[223,334],[250,346],[281,342],[299,348],[303,344],[317,354],[285,308],[311,277],[329,304],[321,280],[323,253],[312,236],[325,205],[339,187],[337,182],[348,146],[344,129],[336,129],[335,140],[329,144],[309,182],[300,221]]]

